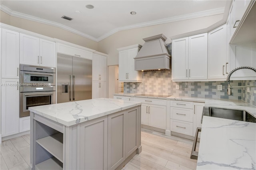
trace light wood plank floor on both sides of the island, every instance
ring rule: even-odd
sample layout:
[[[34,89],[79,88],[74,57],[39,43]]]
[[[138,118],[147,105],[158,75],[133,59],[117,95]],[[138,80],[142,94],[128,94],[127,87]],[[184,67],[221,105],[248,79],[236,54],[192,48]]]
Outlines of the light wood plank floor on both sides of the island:
[[[123,170],[191,170],[196,160],[190,159],[192,140],[166,136],[142,129],[142,152],[124,166]],[[29,170],[30,135],[3,141],[0,145],[0,170]]]

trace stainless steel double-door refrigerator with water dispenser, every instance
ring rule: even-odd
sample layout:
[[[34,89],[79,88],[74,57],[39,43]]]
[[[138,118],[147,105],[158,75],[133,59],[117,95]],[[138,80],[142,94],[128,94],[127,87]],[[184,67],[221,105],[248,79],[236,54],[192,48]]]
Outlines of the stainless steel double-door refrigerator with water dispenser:
[[[57,103],[92,99],[92,61],[57,55]]]

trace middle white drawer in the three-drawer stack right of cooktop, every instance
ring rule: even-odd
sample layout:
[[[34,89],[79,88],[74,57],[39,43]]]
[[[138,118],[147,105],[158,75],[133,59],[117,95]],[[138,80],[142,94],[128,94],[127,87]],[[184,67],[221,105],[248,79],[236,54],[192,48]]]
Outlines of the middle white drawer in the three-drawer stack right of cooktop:
[[[193,123],[193,110],[171,107],[171,119],[192,122]]]

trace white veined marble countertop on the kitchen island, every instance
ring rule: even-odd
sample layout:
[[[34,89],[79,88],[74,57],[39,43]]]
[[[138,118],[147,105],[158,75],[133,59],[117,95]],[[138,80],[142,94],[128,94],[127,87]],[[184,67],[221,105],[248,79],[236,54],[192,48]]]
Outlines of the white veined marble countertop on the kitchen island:
[[[29,107],[28,110],[62,125],[72,126],[141,104],[135,101],[100,98],[35,106]]]

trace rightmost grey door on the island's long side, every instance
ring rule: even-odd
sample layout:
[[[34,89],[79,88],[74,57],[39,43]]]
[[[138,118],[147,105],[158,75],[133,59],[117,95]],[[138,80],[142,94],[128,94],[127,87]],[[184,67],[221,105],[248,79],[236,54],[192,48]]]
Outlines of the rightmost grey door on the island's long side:
[[[125,115],[125,154],[126,158],[138,148],[138,107],[129,109]]]

